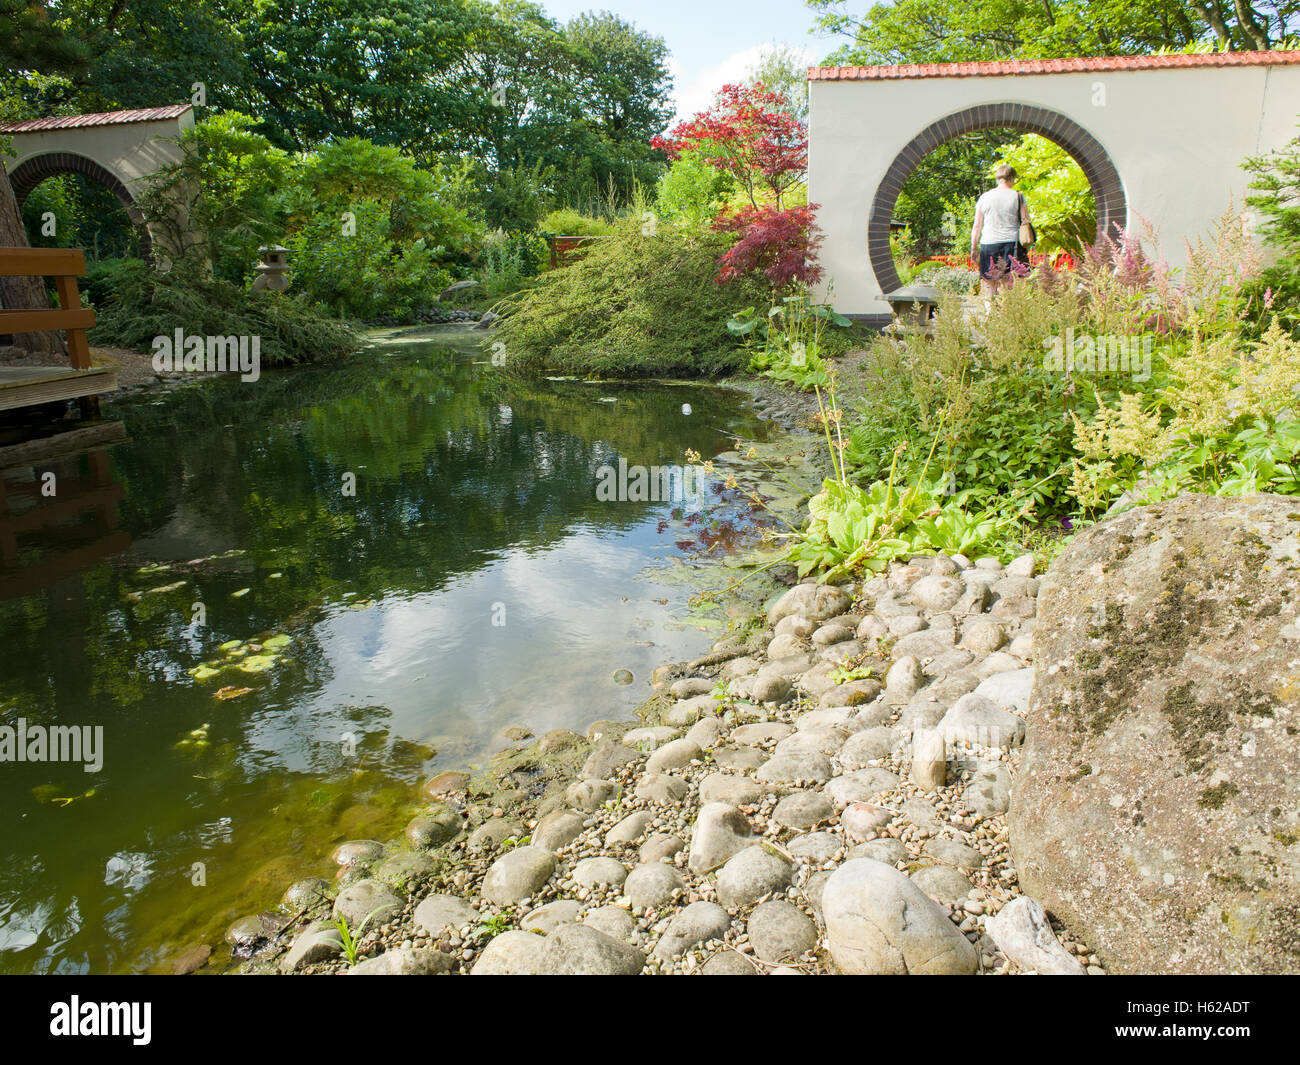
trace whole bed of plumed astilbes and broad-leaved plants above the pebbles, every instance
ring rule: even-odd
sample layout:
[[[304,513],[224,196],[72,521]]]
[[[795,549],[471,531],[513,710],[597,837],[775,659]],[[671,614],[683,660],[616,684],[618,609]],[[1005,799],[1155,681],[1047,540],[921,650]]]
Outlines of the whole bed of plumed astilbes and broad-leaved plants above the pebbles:
[[[1257,263],[1230,209],[1176,273],[1124,234],[1074,277],[1015,281],[987,313],[944,296],[932,334],[872,345],[852,425],[833,371],[829,406],[818,384],[835,476],[788,558],[835,577],[915,551],[1048,555],[1108,507],[1300,494],[1300,341],[1277,320],[1245,334]],[[1075,348],[1066,372],[1049,352],[1070,330],[1106,347]],[[1112,341],[1141,341],[1124,352],[1140,362],[1112,365]]]

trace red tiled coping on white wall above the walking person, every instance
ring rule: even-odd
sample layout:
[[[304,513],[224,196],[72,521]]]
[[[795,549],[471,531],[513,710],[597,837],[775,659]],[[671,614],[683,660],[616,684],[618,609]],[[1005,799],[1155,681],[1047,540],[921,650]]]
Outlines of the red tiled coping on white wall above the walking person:
[[[1206,52],[1165,56],[1078,56],[1060,60],[927,62],[902,66],[810,66],[812,82],[868,82],[894,78],[997,78],[1008,74],[1100,74],[1205,66],[1284,66],[1300,52]]]

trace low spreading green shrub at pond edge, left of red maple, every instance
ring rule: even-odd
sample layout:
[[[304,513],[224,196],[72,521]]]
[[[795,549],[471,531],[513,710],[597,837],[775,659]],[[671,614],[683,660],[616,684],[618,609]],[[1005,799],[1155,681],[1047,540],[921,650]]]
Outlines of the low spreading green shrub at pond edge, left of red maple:
[[[572,265],[502,304],[507,364],[526,373],[586,376],[715,375],[745,352],[727,332],[737,302],[766,302],[766,286],[714,281],[725,238],[660,221],[642,234],[640,216],[619,222]]]

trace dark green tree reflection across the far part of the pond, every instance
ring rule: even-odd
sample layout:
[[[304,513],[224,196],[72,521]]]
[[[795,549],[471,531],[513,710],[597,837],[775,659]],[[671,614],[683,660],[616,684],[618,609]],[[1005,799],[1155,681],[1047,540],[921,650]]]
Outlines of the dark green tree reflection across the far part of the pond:
[[[712,454],[725,437],[708,423],[738,406],[692,390],[685,416],[680,389],[504,381],[447,355],[363,356],[209,391],[170,417],[146,407],[130,419],[136,443],[120,462],[133,489],[200,512],[255,559],[298,567],[299,586],[346,580],[367,596],[441,586],[578,521],[634,525],[653,505],[599,503],[595,469],[619,454]],[[348,472],[355,498],[341,492]]]

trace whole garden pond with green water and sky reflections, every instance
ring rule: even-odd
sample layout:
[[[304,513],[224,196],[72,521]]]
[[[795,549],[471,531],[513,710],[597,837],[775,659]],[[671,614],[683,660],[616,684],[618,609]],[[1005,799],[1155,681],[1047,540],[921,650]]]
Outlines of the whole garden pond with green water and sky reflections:
[[[220,948],[337,843],[399,832],[430,772],[625,719],[716,637],[675,623],[679,576],[760,520],[744,493],[595,485],[767,423],[723,389],[514,381],[471,335],[124,398],[121,442],[4,473],[0,726],[86,749],[0,762],[0,971]]]

